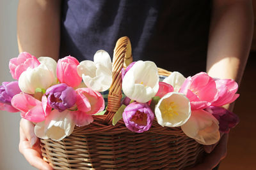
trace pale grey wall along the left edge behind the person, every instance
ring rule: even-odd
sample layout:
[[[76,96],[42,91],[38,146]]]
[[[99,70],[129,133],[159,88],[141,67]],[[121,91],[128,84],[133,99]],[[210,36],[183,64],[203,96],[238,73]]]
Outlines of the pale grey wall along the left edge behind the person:
[[[13,81],[8,63],[19,54],[16,38],[18,0],[0,0],[0,82]],[[19,113],[0,111],[0,169],[36,169],[19,153]]]

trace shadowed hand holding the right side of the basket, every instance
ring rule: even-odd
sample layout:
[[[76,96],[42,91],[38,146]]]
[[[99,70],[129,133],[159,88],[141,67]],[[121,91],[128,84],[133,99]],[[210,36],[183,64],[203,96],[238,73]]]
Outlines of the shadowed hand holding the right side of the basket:
[[[218,166],[220,161],[227,155],[228,134],[223,134],[219,143],[216,145],[205,145],[204,150],[208,153],[201,164],[196,165],[190,170],[210,170]]]

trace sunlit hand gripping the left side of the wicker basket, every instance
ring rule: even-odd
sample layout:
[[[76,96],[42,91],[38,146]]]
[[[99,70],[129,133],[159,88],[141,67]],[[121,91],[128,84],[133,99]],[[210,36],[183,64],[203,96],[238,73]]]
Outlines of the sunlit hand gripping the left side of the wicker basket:
[[[38,169],[51,170],[52,167],[42,159],[40,141],[35,136],[35,125],[22,118],[20,120],[20,143],[19,151],[28,160],[31,166]]]

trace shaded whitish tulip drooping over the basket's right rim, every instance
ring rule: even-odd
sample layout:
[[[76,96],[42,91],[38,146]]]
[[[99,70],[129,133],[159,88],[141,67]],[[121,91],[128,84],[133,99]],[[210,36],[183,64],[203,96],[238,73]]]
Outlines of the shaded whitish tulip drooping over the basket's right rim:
[[[204,110],[192,111],[191,117],[181,129],[189,138],[202,145],[212,145],[220,140],[218,120]]]

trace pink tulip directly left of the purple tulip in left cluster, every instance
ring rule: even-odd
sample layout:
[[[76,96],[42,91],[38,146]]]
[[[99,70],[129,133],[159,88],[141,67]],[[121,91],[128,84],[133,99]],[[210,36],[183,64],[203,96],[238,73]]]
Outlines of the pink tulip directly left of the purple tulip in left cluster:
[[[42,102],[29,94],[20,93],[12,98],[12,106],[21,111],[22,118],[31,122],[42,122],[51,112],[51,107],[47,105],[46,96],[42,97]]]

